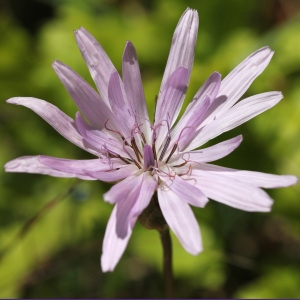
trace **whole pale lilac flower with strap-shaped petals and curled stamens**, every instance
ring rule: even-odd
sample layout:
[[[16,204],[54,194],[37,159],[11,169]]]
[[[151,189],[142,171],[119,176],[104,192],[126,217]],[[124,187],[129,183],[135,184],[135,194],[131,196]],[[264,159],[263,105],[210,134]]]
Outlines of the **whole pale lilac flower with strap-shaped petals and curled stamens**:
[[[185,98],[194,60],[198,14],[187,9],[175,29],[162,79],[155,119],[150,121],[135,48],[127,42],[122,79],[109,57],[84,28],[75,32],[97,93],[62,62],[53,68],[79,110],[73,120],[54,105],[35,98],[7,102],[23,105],[95,159],[70,160],[25,156],[8,162],[7,172],[116,182],[104,194],[115,204],[106,228],[101,265],[112,271],[122,256],[138,216],[157,193],[162,214],[191,254],[202,250],[200,229],[190,205],[204,207],[208,198],[245,211],[270,211],[272,199],[261,188],[293,185],[297,178],[219,167],[210,162],[237,148],[242,136],[194,150],[276,105],[280,92],[238,102],[271,60],[273,52],[252,53],[221,80],[214,72],[175,124]],[[87,121],[86,121],[87,120]]]

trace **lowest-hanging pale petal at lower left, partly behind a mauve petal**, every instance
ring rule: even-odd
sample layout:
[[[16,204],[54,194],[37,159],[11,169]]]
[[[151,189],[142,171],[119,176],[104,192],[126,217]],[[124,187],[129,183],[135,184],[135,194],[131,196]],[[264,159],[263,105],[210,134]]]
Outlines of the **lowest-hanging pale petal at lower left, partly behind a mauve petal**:
[[[136,219],[132,219],[129,223],[127,235],[124,238],[118,237],[116,232],[117,206],[114,207],[106,226],[102,244],[101,268],[103,272],[111,272],[116,267],[126,249]]]

